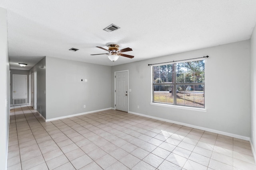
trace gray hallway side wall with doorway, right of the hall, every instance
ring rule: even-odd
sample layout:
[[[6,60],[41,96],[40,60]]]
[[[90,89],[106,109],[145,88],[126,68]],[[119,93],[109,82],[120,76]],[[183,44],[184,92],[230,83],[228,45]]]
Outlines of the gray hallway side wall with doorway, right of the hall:
[[[41,65],[44,68],[41,68]],[[36,71],[36,94],[37,94],[37,111],[46,118],[46,58],[44,57],[34,67],[30,69],[30,74]]]

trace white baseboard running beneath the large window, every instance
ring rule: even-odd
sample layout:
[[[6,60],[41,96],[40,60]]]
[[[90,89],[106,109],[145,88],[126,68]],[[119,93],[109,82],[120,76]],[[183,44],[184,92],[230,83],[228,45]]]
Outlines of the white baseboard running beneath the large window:
[[[243,139],[243,140],[246,140],[246,141],[250,141],[250,137],[245,137],[245,136],[241,136],[241,135],[236,135],[236,134],[233,134],[233,133],[227,133],[227,132],[223,132],[223,131],[217,131],[217,130],[209,129],[209,128],[206,128],[206,127],[200,127],[200,126],[190,125],[190,124],[182,123],[182,122],[178,122],[178,121],[172,121],[172,120],[168,120],[168,119],[162,119],[162,118],[159,118],[159,117],[154,117],[154,116],[150,116],[150,115],[144,115],[144,114],[136,113],[136,112],[132,112],[132,111],[128,111],[128,113],[132,113],[132,114],[134,114],[134,115],[140,115],[140,116],[144,116],[144,117],[148,117],[148,118],[152,118],[152,119],[157,119],[157,120],[161,120],[161,121],[166,121],[166,122],[170,122],[170,123],[175,123],[175,124],[182,125],[182,126],[192,127],[192,128],[200,129],[200,130],[203,130],[203,131],[209,131],[209,132],[212,132],[212,133],[218,133],[218,134],[221,134],[221,135],[226,135],[226,136],[230,136],[230,137],[235,137],[235,138]]]

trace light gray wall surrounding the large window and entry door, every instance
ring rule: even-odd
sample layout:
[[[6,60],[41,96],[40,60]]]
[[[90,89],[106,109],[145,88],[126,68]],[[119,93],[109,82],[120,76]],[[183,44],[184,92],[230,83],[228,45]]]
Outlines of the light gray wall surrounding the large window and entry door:
[[[207,112],[150,105],[152,71],[148,64],[206,55],[210,56],[205,61]],[[114,94],[114,72],[129,70],[129,89],[132,90],[128,94],[129,111],[249,137],[249,65],[249,40],[117,65],[112,67],[112,94]],[[114,96],[112,96],[112,107],[114,107]]]

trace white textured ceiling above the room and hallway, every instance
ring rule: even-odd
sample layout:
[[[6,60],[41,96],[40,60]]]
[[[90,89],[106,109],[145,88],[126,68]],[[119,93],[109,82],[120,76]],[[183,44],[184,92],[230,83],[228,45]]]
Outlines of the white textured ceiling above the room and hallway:
[[[11,68],[44,56],[118,65],[250,39],[256,0],[2,0]],[[121,27],[109,33],[111,23]],[[116,62],[95,46],[117,42],[133,59]],[[70,48],[79,49],[76,52]]]

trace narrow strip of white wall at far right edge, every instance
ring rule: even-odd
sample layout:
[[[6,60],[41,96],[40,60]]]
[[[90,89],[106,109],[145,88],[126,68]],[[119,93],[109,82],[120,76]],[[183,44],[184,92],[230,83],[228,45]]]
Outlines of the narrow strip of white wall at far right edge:
[[[256,27],[250,39],[250,68],[251,68],[251,117],[250,117],[250,139],[254,159],[256,160]]]

